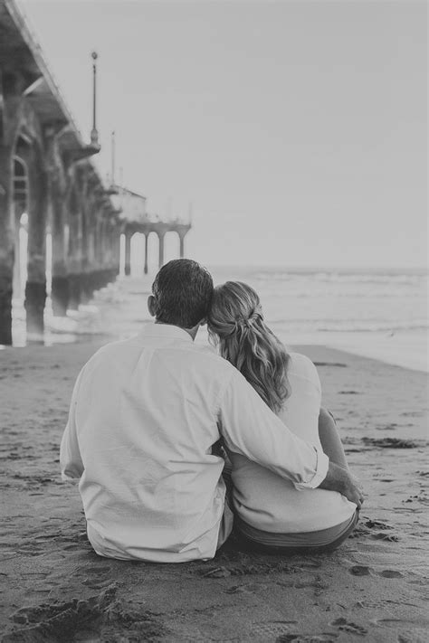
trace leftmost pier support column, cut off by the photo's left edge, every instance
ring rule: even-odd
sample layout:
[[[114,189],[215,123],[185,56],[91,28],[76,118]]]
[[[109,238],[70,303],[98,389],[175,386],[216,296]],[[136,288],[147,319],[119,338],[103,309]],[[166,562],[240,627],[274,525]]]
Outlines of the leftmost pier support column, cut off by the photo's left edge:
[[[0,344],[12,344],[14,235],[11,150],[0,145]]]

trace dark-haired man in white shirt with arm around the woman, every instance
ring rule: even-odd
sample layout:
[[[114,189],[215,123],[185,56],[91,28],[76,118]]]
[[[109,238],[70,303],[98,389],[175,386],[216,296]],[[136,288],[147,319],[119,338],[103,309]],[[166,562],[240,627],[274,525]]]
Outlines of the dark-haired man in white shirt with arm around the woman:
[[[212,452],[221,435],[295,487],[334,489],[359,506],[347,471],[285,428],[232,364],[194,344],[213,294],[210,274],[192,260],[170,261],[152,293],[155,324],[104,346],[81,370],[62,437],[62,478],[81,478],[95,552],[212,558],[233,525],[224,460]]]

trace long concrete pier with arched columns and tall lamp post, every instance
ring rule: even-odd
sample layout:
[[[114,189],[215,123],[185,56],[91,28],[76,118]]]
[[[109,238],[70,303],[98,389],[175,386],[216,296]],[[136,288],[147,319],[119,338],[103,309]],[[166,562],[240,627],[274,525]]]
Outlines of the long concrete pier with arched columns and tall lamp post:
[[[150,216],[144,196],[107,186],[91,162],[100,152],[95,52],[92,59],[87,142],[21,10],[0,0],[0,345],[12,344],[13,299],[24,298],[27,336],[38,341],[48,293],[53,314],[65,316],[116,279],[122,234],[126,274],[135,232],[145,235],[145,272],[151,232],[160,266],[167,232],[177,233],[184,256],[190,222]]]

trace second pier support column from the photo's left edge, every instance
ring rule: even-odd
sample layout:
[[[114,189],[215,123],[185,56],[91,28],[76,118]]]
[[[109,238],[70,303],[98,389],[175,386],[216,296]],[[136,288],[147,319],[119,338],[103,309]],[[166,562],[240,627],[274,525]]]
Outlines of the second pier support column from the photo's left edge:
[[[38,158],[29,170],[28,268],[25,286],[26,330],[32,341],[43,341],[43,313],[46,301],[46,213],[47,177]]]

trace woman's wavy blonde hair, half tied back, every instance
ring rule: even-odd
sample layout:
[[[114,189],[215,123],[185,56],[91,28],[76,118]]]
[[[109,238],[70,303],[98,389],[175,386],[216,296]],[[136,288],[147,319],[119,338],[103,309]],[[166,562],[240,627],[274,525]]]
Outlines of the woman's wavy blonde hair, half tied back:
[[[220,355],[252,384],[272,411],[280,411],[290,394],[289,355],[263,321],[256,292],[242,281],[217,286],[207,326]]]

